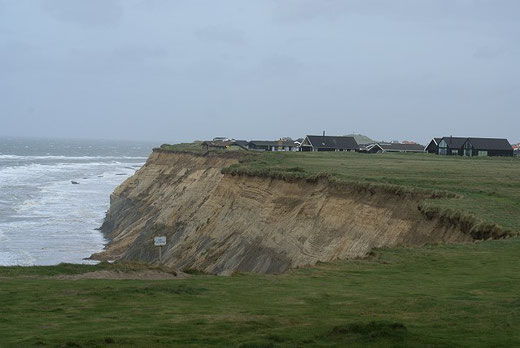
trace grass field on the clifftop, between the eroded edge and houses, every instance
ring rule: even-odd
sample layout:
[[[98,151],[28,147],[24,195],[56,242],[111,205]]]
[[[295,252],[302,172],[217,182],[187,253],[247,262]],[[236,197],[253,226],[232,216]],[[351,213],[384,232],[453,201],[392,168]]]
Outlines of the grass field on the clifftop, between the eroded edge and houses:
[[[268,152],[244,157],[228,172],[266,176],[274,173],[282,177],[325,173],[345,183],[451,192],[462,198],[428,200],[425,206],[472,214],[486,223],[520,231],[519,158]]]

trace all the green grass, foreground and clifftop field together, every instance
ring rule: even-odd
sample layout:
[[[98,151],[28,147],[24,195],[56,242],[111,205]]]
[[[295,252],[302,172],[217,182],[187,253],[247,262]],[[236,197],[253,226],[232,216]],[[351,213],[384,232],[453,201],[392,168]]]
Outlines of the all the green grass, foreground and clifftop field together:
[[[460,198],[427,204],[520,226],[519,159],[263,153],[228,170],[446,191]],[[519,257],[520,238],[509,238],[377,250],[283,275],[60,280],[136,266],[0,267],[0,347],[520,346]]]

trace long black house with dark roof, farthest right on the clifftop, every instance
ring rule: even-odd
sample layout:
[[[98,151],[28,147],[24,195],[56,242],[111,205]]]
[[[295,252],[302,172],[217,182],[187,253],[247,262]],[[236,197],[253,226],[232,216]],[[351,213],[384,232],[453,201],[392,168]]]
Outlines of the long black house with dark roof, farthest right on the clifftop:
[[[512,156],[513,148],[507,139],[444,137],[439,142],[439,155]]]

